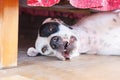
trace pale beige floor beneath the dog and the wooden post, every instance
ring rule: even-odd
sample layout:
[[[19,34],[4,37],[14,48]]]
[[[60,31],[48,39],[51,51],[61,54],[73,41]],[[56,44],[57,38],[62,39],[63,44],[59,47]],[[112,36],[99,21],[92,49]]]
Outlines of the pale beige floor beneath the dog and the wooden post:
[[[17,67],[0,70],[0,80],[120,80],[119,56],[81,55],[59,61],[55,57],[28,57],[28,46],[20,46]]]

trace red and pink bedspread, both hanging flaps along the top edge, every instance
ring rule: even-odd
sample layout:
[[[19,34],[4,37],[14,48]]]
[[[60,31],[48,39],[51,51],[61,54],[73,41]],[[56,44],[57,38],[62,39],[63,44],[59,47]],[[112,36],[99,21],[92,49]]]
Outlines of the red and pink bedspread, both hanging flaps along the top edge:
[[[60,0],[28,0],[29,6],[50,7]],[[91,8],[101,11],[109,11],[120,8],[120,0],[69,0],[70,4],[76,8]]]

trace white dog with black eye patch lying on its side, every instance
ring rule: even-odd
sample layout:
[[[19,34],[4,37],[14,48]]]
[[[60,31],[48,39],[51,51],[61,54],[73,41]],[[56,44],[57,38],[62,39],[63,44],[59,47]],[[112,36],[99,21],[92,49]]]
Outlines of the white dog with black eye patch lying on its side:
[[[120,12],[102,12],[85,17],[73,26],[46,19],[38,30],[35,48],[27,55],[54,54],[61,60],[81,53],[120,55]]]

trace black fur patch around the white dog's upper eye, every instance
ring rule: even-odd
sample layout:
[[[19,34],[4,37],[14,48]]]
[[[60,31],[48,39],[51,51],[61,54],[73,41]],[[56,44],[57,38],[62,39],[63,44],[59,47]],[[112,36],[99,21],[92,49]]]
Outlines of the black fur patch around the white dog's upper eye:
[[[48,37],[53,33],[59,31],[59,23],[57,22],[49,22],[41,25],[39,28],[39,34],[41,37]]]

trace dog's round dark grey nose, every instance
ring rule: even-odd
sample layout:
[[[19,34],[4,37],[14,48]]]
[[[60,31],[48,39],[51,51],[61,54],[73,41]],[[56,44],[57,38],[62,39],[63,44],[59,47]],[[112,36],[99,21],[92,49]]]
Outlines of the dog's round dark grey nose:
[[[50,46],[53,49],[58,49],[63,45],[62,38],[60,36],[54,36],[50,40]]]

